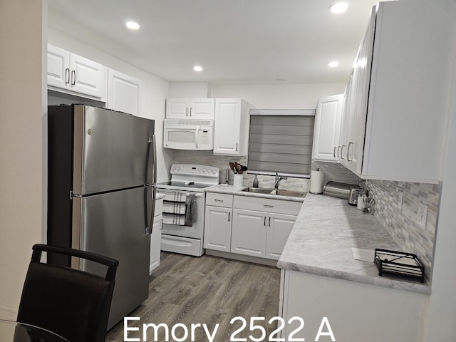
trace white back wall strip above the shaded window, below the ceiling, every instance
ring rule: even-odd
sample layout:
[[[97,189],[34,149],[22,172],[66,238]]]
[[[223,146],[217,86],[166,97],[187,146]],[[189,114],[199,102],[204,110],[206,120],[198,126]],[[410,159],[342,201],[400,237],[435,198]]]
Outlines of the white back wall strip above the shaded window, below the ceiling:
[[[318,98],[341,94],[345,87],[346,83],[212,85],[211,97],[244,98],[258,109],[314,109]]]

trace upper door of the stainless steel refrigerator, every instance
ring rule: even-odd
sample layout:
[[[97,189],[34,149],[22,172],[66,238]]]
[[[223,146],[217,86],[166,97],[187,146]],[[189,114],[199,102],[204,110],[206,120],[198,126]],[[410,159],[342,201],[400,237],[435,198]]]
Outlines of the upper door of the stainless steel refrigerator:
[[[152,183],[154,120],[74,105],[73,194]]]

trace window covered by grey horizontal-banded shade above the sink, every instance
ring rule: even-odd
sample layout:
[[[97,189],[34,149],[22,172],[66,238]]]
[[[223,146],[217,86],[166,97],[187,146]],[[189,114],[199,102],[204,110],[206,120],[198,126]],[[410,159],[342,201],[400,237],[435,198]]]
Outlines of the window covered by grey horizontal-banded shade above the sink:
[[[250,110],[249,173],[309,177],[315,110]]]

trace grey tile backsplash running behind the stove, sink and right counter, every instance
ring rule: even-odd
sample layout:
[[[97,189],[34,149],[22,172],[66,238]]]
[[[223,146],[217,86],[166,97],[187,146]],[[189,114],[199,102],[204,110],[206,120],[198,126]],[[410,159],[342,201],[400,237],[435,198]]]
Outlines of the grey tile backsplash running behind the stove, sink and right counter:
[[[212,151],[181,151],[173,152],[174,163],[199,164],[219,167],[219,182],[225,182],[225,172],[229,162],[237,161],[247,164],[246,157],[230,157],[214,155]],[[312,162],[311,170],[323,171],[323,185],[334,180],[358,184],[361,178],[337,162]],[[252,186],[254,175],[244,174],[244,186]],[[274,187],[274,177],[259,175],[259,187]],[[229,184],[233,184],[233,172],[229,172]],[[374,215],[383,224],[387,232],[395,239],[401,252],[417,254],[425,264],[425,279],[430,281],[434,255],[437,212],[440,200],[441,185],[414,182],[390,182],[383,180],[367,180],[365,186],[375,199]],[[280,183],[281,189],[309,191],[310,180],[288,178]],[[403,193],[400,207],[399,197]],[[425,228],[417,223],[418,206],[427,206]]]

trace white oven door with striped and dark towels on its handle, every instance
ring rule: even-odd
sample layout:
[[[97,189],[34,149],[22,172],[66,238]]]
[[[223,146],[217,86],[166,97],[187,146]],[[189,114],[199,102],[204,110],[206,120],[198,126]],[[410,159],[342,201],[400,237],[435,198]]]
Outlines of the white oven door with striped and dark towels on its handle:
[[[192,239],[202,239],[204,233],[204,192],[191,192],[182,191],[182,195],[185,195],[185,199],[190,197],[190,194],[195,194],[195,206],[192,209],[192,226],[172,224],[172,215],[174,214],[175,206],[171,201],[177,192],[177,190],[164,190],[157,189],[158,193],[165,194],[163,199],[163,227],[162,234],[174,235],[176,237],[190,237]]]

